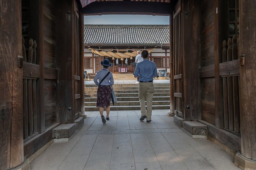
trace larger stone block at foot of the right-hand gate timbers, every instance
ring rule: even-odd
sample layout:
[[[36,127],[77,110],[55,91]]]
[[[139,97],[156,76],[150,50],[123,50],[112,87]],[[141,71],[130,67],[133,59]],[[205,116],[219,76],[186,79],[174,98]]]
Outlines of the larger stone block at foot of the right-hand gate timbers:
[[[207,126],[197,121],[183,122],[183,128],[191,135],[204,135],[208,134]]]

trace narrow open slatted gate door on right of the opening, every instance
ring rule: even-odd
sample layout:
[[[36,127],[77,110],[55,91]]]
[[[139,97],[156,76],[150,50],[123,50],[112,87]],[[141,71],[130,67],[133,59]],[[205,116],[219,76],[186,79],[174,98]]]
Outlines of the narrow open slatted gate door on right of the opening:
[[[174,75],[174,114],[183,116],[183,60],[181,7],[173,14],[173,75]]]

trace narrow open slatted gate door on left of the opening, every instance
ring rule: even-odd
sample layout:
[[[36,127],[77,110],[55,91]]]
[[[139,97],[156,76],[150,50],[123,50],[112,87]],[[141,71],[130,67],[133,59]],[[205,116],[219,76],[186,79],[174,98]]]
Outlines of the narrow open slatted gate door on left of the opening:
[[[74,1],[74,95],[75,95],[75,102],[74,102],[74,114],[75,119],[80,117],[81,115],[81,88],[80,88],[80,44],[79,44],[79,14],[78,14],[78,5]]]

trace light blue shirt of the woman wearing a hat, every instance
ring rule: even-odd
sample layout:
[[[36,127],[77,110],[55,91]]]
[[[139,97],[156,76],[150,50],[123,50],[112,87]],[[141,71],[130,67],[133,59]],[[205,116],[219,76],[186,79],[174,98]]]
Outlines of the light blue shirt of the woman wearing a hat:
[[[97,72],[93,80],[97,86],[99,85],[99,82],[101,82],[101,80],[108,74],[108,72],[109,72],[108,69],[102,69]],[[104,79],[100,85],[112,86],[113,84],[114,84],[113,74],[109,73],[108,77],[106,77],[106,79]]]

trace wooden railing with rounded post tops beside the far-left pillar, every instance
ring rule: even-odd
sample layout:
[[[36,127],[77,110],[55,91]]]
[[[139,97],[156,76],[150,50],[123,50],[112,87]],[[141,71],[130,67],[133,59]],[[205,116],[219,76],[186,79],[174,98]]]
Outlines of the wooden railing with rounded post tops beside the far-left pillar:
[[[23,39],[23,138],[38,133],[36,80],[39,78],[39,65],[36,64],[36,41],[29,40],[28,57]]]

